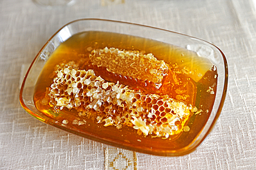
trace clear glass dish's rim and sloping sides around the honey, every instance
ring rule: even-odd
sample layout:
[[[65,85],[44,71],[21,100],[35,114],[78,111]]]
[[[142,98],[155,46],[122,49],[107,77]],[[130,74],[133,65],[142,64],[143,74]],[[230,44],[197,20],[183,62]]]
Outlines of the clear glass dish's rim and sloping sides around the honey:
[[[217,68],[217,91],[212,111],[208,113],[208,117],[205,118],[205,124],[201,126],[201,130],[196,131],[195,133],[191,126],[190,131],[182,133],[177,140],[170,140],[165,143],[156,142],[153,146],[147,138],[130,140],[129,135],[113,133],[111,132],[111,128],[110,130],[104,131],[102,129],[98,129],[98,125],[93,124],[91,124],[91,126],[87,126],[86,129],[83,129],[82,126],[69,126],[69,124],[62,122],[59,119],[60,117],[49,116],[37,110],[33,101],[35,84],[37,83],[37,78],[46,64],[46,61],[51,58],[51,54],[58,46],[60,46],[60,44],[66,41],[66,39],[77,33],[86,31],[115,32],[124,35],[153,39],[165,44],[172,44],[174,46],[185,48],[192,53],[196,53],[200,58],[210,60],[210,62]],[[196,59],[194,61],[196,62]],[[194,66],[196,66],[195,62],[193,64]],[[217,118],[221,113],[221,108],[226,97],[227,85],[228,64],[226,57],[222,51],[217,48],[217,46],[214,46],[207,41],[177,32],[143,26],[135,23],[110,21],[105,19],[79,19],[60,28],[60,30],[58,30],[39,51],[26,73],[24,82],[21,86],[19,100],[21,102],[21,106],[30,115],[46,124],[51,124],[57,128],[63,129],[64,131],[132,151],[154,155],[177,156],[185,155],[194,151],[210,133],[214,123],[217,121]],[[196,100],[201,99],[196,98]],[[195,122],[196,117],[199,115],[200,114],[194,115],[193,119]],[[101,133],[101,131],[104,131],[104,135],[102,135],[103,133]],[[190,140],[188,140],[188,138],[190,138]],[[182,144],[178,147],[179,143]]]

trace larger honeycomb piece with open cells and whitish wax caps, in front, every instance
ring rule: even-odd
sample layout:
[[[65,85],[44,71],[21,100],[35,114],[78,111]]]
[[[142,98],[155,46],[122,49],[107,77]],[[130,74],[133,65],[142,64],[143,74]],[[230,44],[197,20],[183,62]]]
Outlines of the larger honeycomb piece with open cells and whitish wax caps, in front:
[[[46,91],[55,112],[75,109],[104,126],[130,126],[140,135],[168,138],[183,131],[196,107],[168,95],[145,93],[119,82],[107,82],[94,70],[79,69],[73,62],[60,64]],[[157,79],[158,81],[159,79]]]

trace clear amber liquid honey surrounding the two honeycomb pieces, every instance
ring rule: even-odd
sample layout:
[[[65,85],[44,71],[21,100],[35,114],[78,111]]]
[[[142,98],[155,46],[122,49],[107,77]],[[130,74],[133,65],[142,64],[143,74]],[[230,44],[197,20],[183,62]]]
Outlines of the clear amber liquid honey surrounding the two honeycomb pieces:
[[[44,103],[46,88],[53,82],[57,64],[69,61],[77,62],[82,59],[80,66],[83,67],[84,63],[88,61],[91,49],[106,46],[125,50],[145,50],[146,53],[152,53],[157,59],[163,59],[167,64],[177,64],[180,69],[186,68],[190,71],[190,74],[185,76],[190,77],[196,85],[194,105],[201,111],[199,114],[192,115],[188,120],[187,126],[190,127],[190,131],[162,139],[152,138],[150,135],[147,137],[138,135],[135,129],[128,126],[120,130],[114,126],[105,127],[91,119],[86,119],[86,124],[78,126],[72,124],[73,120],[81,119],[75,110],[64,109],[60,113],[55,113],[49,104]],[[67,120],[68,124],[64,126],[93,140],[116,144],[127,149],[134,148],[136,151],[143,149],[146,153],[175,152],[187,147],[196,138],[210,116],[217,88],[217,70],[211,68],[212,64],[208,59],[199,58],[189,50],[170,44],[109,32],[82,32],[66,40],[48,59],[35,86],[34,102],[37,109],[44,115],[57,122]],[[212,86],[214,94],[209,93],[209,86]]]

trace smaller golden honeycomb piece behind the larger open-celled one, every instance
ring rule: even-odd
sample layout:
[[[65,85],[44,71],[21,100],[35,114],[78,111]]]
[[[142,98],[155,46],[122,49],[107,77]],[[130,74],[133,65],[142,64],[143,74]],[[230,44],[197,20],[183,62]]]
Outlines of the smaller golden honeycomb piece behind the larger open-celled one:
[[[145,51],[105,47],[92,50],[89,59],[95,73],[103,75],[109,82],[118,80],[121,84],[136,83],[138,88],[145,90],[159,89],[169,72],[168,65],[156,59],[152,53],[144,53]],[[108,74],[100,74],[102,71]]]

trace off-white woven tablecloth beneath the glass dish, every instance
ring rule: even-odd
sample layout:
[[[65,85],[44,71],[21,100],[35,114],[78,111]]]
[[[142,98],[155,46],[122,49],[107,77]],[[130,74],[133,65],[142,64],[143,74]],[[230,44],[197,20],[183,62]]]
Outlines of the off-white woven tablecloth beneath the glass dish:
[[[105,166],[106,151],[115,147],[39,122],[19,104],[23,66],[59,28],[82,18],[199,37],[221,48],[228,60],[226,102],[208,138],[180,157],[136,153],[131,169],[256,169],[256,1],[102,2],[77,0],[48,9],[30,0],[0,0],[0,169],[113,169]]]

